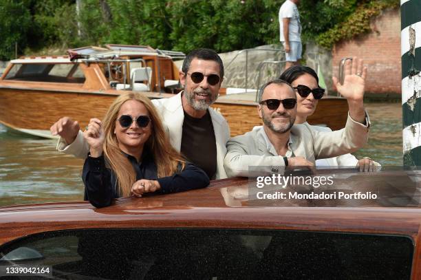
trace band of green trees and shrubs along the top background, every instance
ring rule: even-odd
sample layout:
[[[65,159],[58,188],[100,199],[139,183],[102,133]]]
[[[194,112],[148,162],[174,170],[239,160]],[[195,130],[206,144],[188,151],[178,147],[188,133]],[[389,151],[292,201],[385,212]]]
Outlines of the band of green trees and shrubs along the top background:
[[[80,47],[120,43],[189,52],[228,52],[279,42],[276,0],[1,0],[0,56],[14,42]],[[332,47],[369,30],[371,18],[396,0],[301,0],[303,39]]]

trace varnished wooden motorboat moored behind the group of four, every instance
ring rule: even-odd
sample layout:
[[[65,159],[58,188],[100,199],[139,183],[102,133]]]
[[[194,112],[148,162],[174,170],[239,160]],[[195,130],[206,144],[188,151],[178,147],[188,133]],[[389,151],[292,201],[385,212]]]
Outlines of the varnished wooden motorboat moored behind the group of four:
[[[52,138],[50,126],[63,116],[85,127],[90,118],[102,118],[123,90],[142,91],[149,98],[169,98],[180,90],[179,69],[173,58],[180,52],[149,46],[106,45],[82,47],[69,56],[29,56],[10,61],[0,78],[0,122],[11,129]],[[142,83],[133,73],[147,70]],[[222,89],[212,106],[228,120],[231,136],[261,125],[256,92],[226,94]],[[327,96],[319,101],[311,124],[341,129],[347,102]]]

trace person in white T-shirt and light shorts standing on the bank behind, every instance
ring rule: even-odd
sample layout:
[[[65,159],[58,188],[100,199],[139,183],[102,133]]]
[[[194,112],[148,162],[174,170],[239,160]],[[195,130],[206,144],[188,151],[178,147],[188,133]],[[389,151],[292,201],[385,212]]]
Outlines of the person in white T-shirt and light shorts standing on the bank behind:
[[[285,69],[299,65],[301,52],[301,21],[296,7],[300,0],[286,0],[279,9],[279,35],[285,48]]]

